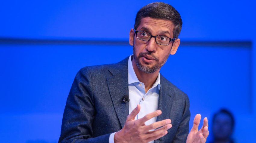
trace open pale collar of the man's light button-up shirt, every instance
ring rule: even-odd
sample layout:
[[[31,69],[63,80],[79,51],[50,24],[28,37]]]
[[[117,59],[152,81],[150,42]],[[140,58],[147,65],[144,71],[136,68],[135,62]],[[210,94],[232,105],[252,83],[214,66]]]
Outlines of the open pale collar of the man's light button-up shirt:
[[[132,55],[130,55],[128,60],[128,84],[139,82],[138,77],[136,76],[133,64],[132,64]],[[158,72],[157,79],[152,87],[158,86],[158,90],[160,90],[160,73]]]

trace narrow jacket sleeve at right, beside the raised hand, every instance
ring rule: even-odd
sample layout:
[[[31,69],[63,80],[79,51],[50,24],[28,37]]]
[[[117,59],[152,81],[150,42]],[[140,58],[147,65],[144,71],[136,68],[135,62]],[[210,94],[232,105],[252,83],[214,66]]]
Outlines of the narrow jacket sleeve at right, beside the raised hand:
[[[189,120],[190,120],[189,98],[186,95],[186,101],[185,101],[182,120],[179,124],[178,130],[176,132],[176,135],[173,138],[172,143],[186,143],[186,140],[189,134]]]

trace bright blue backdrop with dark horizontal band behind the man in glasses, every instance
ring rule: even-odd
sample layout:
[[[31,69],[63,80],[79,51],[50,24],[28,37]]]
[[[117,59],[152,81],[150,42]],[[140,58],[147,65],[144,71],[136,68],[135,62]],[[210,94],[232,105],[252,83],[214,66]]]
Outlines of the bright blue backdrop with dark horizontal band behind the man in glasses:
[[[150,2],[1,1],[1,142],[58,142],[76,72],[132,54],[130,28]],[[253,142],[255,2],[163,2],[179,11],[183,27],[177,53],[160,72],[188,94],[192,118],[201,113],[211,123],[213,113],[225,107],[236,118],[236,141]]]

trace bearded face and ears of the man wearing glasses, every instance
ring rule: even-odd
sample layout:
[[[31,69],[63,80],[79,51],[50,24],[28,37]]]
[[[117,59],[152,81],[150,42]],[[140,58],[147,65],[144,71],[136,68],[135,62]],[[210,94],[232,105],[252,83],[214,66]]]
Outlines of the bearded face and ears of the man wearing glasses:
[[[136,30],[145,31],[153,36],[161,35],[173,38],[174,25],[170,20],[142,18]],[[142,41],[136,38],[134,30],[130,31],[130,45],[133,46],[133,59],[138,69],[145,73],[159,72],[170,54],[175,54],[180,44],[180,39],[176,39],[169,45],[160,45],[155,42],[155,38],[149,41]]]

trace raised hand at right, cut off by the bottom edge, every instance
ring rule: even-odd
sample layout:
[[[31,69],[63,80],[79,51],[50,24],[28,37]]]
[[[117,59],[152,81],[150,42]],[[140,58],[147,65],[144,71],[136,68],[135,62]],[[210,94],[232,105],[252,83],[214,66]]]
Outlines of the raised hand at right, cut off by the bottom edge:
[[[205,143],[209,135],[208,120],[205,117],[203,126],[198,130],[198,126],[201,120],[201,115],[196,114],[193,122],[193,127],[189,132],[186,143]]]

